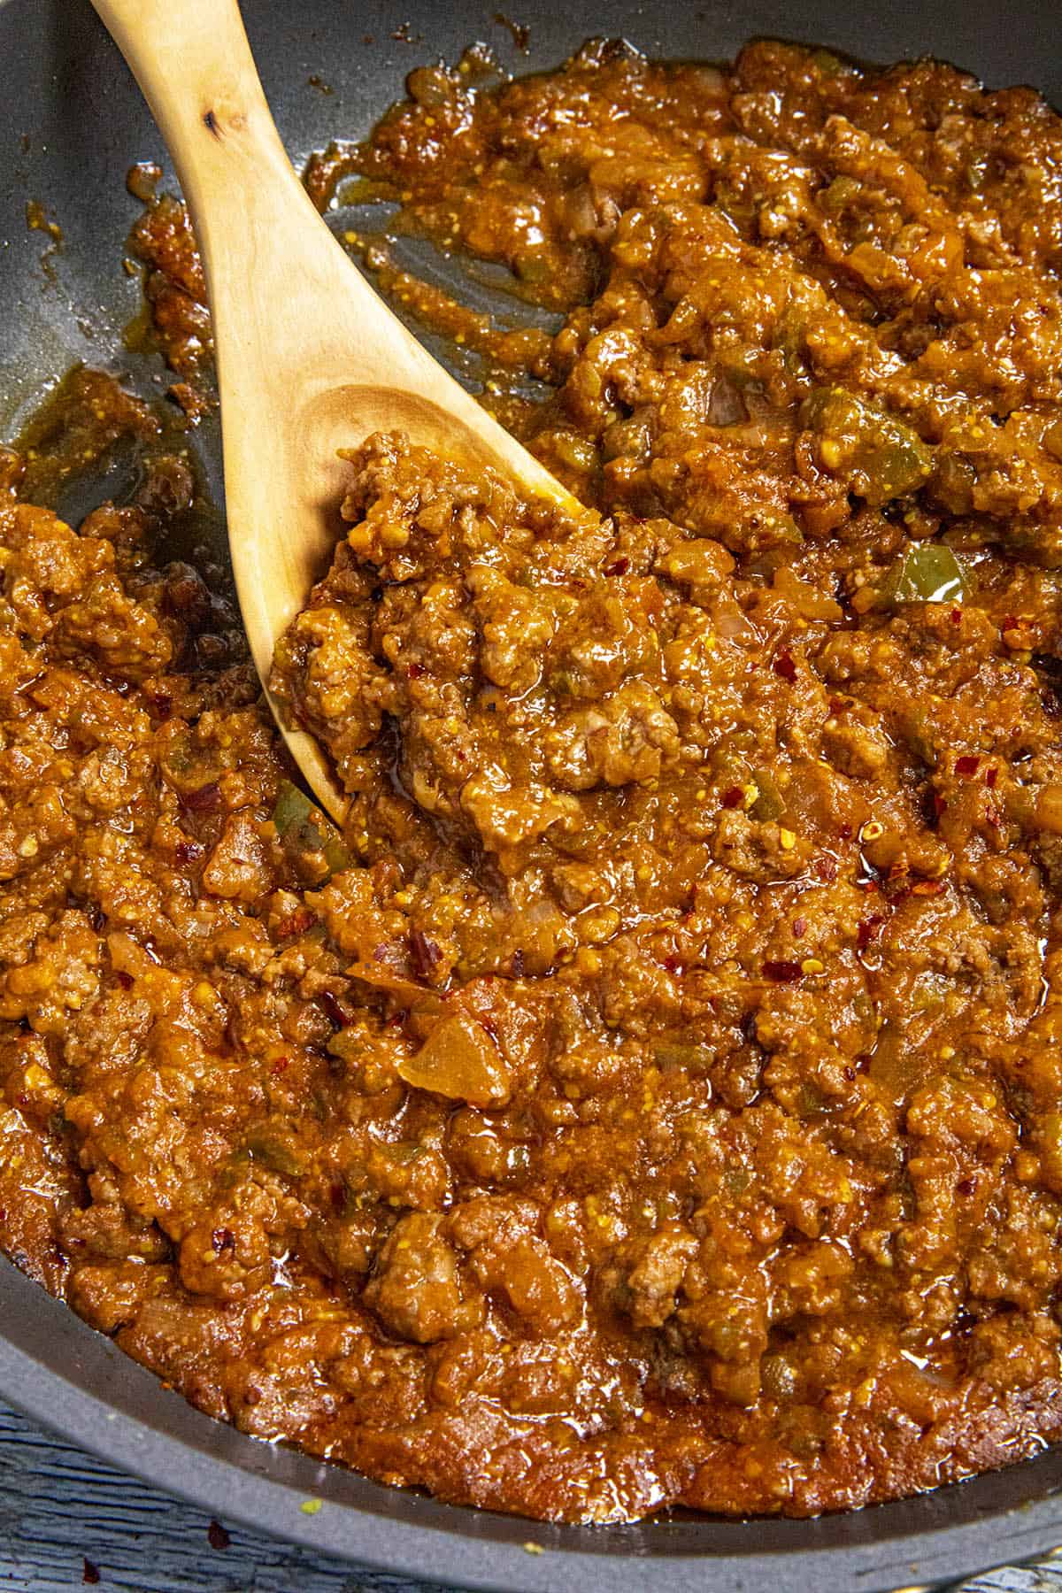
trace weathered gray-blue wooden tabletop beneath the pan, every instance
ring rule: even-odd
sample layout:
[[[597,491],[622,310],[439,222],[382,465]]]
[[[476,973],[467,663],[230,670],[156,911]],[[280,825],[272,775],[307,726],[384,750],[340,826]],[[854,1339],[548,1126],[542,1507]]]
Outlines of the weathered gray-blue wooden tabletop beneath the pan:
[[[100,1593],[441,1593],[212,1521],[0,1405],[0,1588],[86,1585]],[[705,1569],[705,1593],[710,1585]],[[557,1593],[567,1593],[560,1580]],[[1062,1593],[1062,1569],[997,1571],[963,1583],[963,1593]]]

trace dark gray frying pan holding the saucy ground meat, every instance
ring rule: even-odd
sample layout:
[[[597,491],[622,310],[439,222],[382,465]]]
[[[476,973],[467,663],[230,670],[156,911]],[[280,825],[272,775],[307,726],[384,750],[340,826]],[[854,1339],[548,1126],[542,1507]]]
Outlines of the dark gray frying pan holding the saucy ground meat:
[[[1033,83],[1062,104],[1057,0],[1003,8],[998,0],[599,0],[581,13],[560,0],[513,0],[514,19],[530,29],[527,54],[514,51],[497,3],[245,0],[266,91],[296,164],[330,137],[368,131],[411,67],[439,54],[454,59],[479,38],[514,70],[529,70],[556,65],[589,33],[707,59],[731,56],[750,35],[774,33],[869,61],[930,53],[997,86]],[[154,126],[86,0],[0,0],[0,440],[75,360],[123,370],[142,390],[158,390],[158,362],[121,344],[139,304],[139,285],[121,271],[121,244],[135,215],[124,174],[134,161],[159,158]],[[62,252],[45,263],[46,239],[25,225],[29,201],[43,202],[64,231]],[[207,429],[199,446],[217,484],[215,444]],[[588,1529],[452,1509],[210,1421],[6,1262],[0,1397],[217,1515],[460,1587],[877,1593],[939,1587],[1062,1545],[1062,1450],[920,1499],[818,1521],[678,1517]],[[323,1501],[315,1513],[301,1509],[310,1497]]]

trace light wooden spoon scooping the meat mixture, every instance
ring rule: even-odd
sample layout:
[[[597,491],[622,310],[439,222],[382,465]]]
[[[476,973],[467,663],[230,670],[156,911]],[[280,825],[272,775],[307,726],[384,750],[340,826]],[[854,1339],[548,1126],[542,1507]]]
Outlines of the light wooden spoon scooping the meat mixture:
[[[174,158],[207,276],[229,546],[263,685],[336,545],[338,449],[401,430],[459,464],[576,500],[377,298],[295,175],[236,0],[94,0]],[[277,704],[272,703],[274,714]],[[317,742],[277,723],[317,798],[347,798]]]

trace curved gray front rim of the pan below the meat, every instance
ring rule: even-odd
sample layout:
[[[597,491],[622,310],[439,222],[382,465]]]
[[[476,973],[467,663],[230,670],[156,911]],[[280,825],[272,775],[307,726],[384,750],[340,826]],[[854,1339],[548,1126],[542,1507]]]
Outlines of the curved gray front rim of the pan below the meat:
[[[567,1580],[576,1571],[586,1593],[693,1593],[709,1568],[716,1593],[767,1585],[774,1593],[837,1585],[928,1593],[1001,1564],[1062,1556],[1062,1491],[1046,1491],[1048,1483],[1046,1496],[1022,1497],[1029,1469],[1051,1458],[1059,1472],[1051,1481],[1062,1483],[1062,1448],[914,1501],[817,1521],[666,1518],[580,1528],[441,1504],[204,1415],[6,1258],[0,1399],[212,1515],[347,1564],[468,1593],[557,1593],[557,1574]],[[153,1407],[156,1419],[139,1405]],[[1009,1496],[1006,1505],[978,1502],[994,1485]],[[322,1501],[320,1509],[306,1512],[307,1501]],[[966,1520],[949,1518],[955,1504]],[[919,1529],[876,1531],[912,1512],[925,1517]]]

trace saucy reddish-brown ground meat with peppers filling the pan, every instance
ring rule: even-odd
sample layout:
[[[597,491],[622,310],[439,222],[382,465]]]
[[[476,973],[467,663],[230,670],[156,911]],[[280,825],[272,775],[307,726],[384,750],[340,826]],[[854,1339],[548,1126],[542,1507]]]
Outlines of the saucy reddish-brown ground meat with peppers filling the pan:
[[[355,456],[274,679],[342,838],[151,570],[158,492],[0,508],[5,1246],[205,1410],[452,1501],[806,1515],[1032,1454],[1062,127],[780,45],[473,78],[307,182],[562,314],[368,250],[588,510]],[[135,247],[194,378],[183,212]]]

